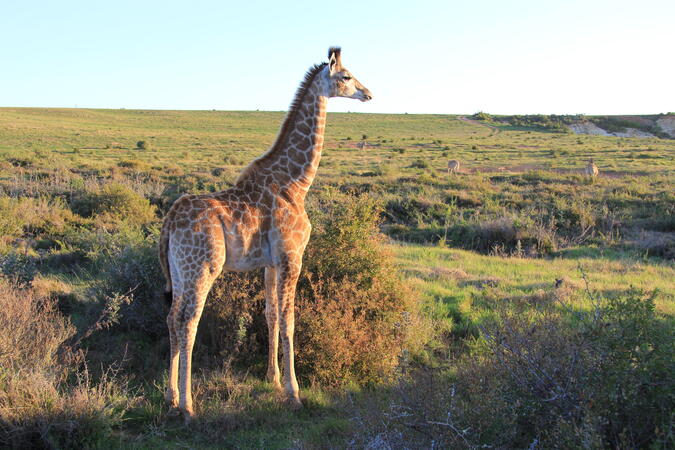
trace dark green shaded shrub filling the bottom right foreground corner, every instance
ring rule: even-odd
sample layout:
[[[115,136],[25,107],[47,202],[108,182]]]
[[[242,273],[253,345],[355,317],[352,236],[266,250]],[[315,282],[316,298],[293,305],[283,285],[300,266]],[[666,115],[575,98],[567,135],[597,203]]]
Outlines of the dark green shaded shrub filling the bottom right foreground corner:
[[[564,287],[488,295],[495,314],[470,353],[451,373],[412,370],[366,444],[381,434],[408,447],[672,447],[673,329],[655,295],[591,297],[586,311]]]

